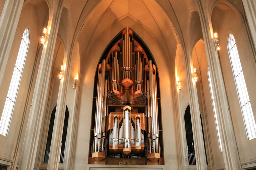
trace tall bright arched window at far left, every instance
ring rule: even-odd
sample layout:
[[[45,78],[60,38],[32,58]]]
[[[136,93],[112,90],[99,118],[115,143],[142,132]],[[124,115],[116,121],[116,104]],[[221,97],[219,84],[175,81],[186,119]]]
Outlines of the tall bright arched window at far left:
[[[27,52],[28,52],[28,45],[29,45],[29,30],[27,28],[25,29],[21,39],[20,50],[19,50],[18,57],[12,73],[12,80],[9,86],[9,90],[8,90],[7,97],[4,104],[4,110],[3,110],[1,121],[0,121],[0,134],[4,136],[7,135],[7,131],[9,129],[12,112],[13,112],[18,88],[20,85],[20,78],[22,75],[24,63],[26,60]]]

